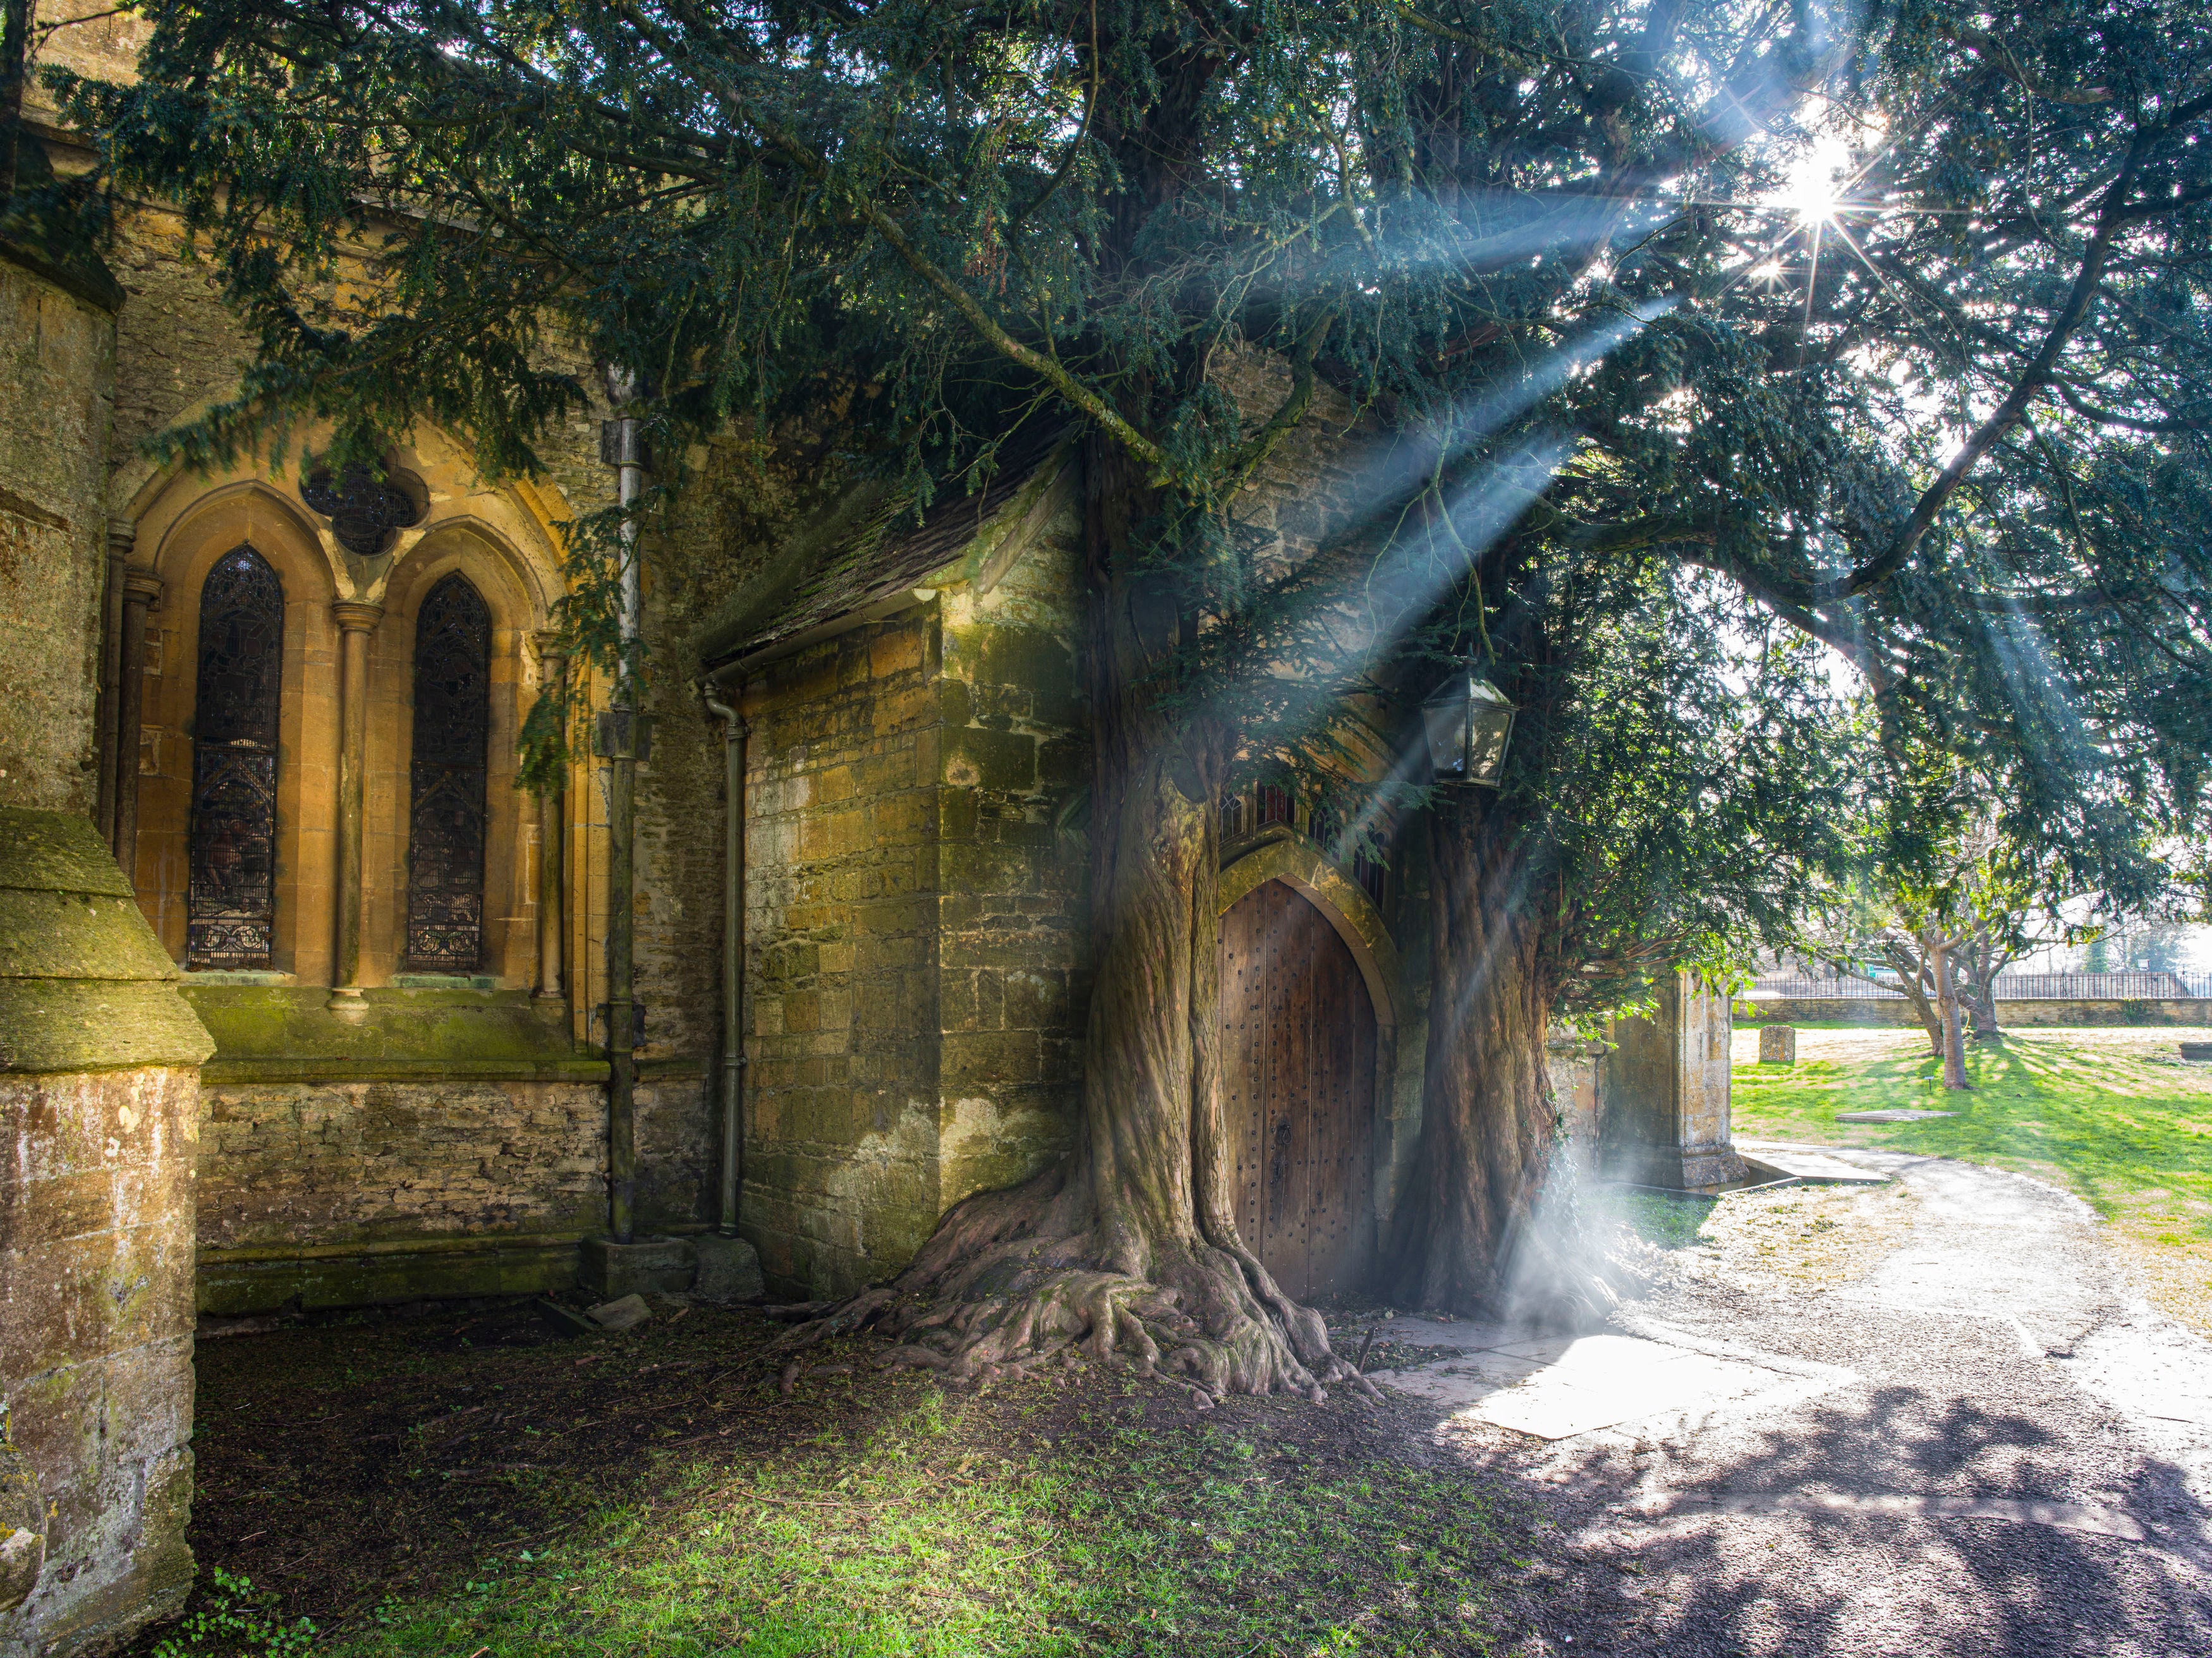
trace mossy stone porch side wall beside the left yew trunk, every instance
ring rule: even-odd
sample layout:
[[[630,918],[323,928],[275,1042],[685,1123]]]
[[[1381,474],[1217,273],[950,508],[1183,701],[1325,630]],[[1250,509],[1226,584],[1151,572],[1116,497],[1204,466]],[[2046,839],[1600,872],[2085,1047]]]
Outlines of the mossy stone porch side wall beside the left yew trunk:
[[[745,1234],[779,1291],[902,1267],[1068,1143],[1084,1017],[1062,508],[1009,568],[745,690]]]

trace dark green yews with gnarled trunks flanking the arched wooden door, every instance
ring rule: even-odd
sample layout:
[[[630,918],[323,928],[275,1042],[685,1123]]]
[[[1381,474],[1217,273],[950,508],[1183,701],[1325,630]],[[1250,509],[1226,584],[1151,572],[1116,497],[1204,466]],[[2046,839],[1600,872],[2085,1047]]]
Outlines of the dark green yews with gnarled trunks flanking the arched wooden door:
[[[1077,436],[1075,1152],[812,1333],[880,1320],[967,1375],[1077,1340],[1210,1391],[1347,1373],[1232,1218],[1212,809],[1254,767],[1327,772],[1347,705],[1409,738],[1378,796],[1429,838],[1387,1240],[1425,1307],[1526,1267],[1551,1021],[1781,937],[1885,756],[1991,778],[2077,886],[2152,884],[2146,825],[2201,820],[2194,7],[146,13],[142,80],[71,106],[113,183],[184,206],[259,343],[184,455],[434,418],[529,469],[575,358],[639,371],[668,440],[834,407],[845,464],[916,504]],[[378,285],[332,283],[347,248]],[[1279,363],[1267,407],[1223,391],[1239,351]],[[1358,409],[1365,495],[1292,566],[1239,497],[1321,387]],[[1498,789],[1436,787],[1411,743],[1455,661],[1520,707]]]

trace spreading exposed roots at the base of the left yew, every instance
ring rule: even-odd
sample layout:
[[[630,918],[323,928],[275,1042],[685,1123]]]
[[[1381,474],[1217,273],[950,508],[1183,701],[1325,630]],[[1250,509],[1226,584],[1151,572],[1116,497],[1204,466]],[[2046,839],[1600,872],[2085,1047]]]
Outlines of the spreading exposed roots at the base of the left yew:
[[[883,1368],[925,1368],[956,1386],[1015,1379],[1079,1355],[1141,1377],[1183,1382],[1192,1404],[1228,1393],[1303,1393],[1374,1384],[1329,1351],[1321,1315],[1298,1307],[1241,1245],[1155,1245],[1150,1273],[1110,1265],[1106,1229],[1062,1229],[1060,1176],[984,1192],[938,1225],[914,1265],[783,1337],[785,1391],[807,1349],[872,1329],[894,1346]],[[1203,1399],[1203,1404],[1199,1404]]]

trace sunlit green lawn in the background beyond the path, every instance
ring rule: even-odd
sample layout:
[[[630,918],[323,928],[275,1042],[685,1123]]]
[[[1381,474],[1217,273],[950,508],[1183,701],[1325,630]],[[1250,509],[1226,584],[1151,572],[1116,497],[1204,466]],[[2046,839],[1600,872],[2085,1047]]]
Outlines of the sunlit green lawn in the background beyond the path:
[[[1918,1030],[1798,1028],[1798,1063],[1761,1066],[1736,1032],[1741,1136],[1882,1145],[2051,1180],[2110,1227],[2150,1298],[2212,1335],[2212,1066],[2179,1041],[2205,1030],[2015,1030],[1969,1043],[1969,1092],[1944,1092]],[[1885,1108],[1958,1112],[1927,1123],[1838,1123]]]

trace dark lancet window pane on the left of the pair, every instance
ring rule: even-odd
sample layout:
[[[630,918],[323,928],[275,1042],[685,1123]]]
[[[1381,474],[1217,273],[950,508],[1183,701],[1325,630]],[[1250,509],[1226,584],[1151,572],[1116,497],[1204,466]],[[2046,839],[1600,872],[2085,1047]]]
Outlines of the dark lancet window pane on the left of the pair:
[[[199,590],[186,962],[265,968],[276,944],[276,692],[283,584],[250,546]]]

